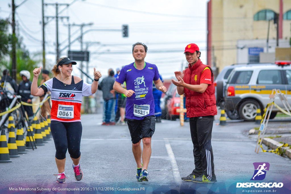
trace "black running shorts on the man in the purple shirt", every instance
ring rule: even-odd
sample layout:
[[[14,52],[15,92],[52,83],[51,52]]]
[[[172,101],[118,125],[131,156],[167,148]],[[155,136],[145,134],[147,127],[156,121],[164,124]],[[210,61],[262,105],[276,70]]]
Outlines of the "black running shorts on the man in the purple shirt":
[[[155,132],[156,117],[147,116],[142,120],[127,119],[127,125],[133,144],[139,143],[142,138],[151,137]]]

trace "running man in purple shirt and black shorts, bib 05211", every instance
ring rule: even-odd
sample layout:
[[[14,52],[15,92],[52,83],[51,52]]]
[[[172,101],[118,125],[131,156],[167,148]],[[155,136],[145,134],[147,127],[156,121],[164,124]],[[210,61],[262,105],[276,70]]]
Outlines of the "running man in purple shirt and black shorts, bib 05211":
[[[125,65],[116,77],[113,89],[127,97],[125,118],[132,141],[132,152],[137,164],[136,179],[148,181],[148,163],[152,153],[151,138],[155,132],[155,103],[152,82],[162,92],[167,89],[159,79],[156,65],[144,61],[148,47],[136,42],[132,45],[134,63]],[[125,81],[126,89],[121,86]],[[143,140],[143,150],[141,150]],[[143,164],[141,163],[141,157]]]

